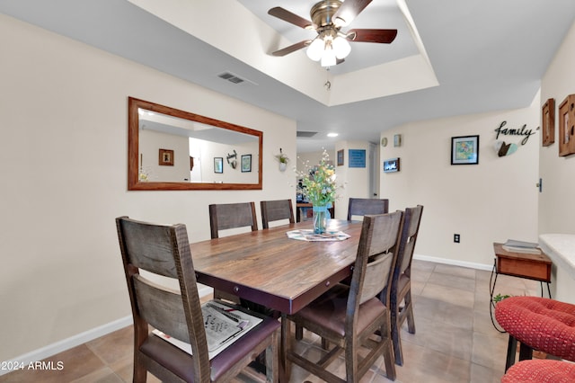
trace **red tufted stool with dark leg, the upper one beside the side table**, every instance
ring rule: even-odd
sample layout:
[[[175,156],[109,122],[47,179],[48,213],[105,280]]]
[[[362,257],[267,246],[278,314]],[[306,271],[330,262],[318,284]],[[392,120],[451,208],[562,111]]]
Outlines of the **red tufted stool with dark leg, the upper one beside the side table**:
[[[517,341],[519,361],[531,359],[534,349],[575,361],[575,305],[550,298],[511,297],[495,306],[495,318],[509,333],[506,371],[515,363]]]

